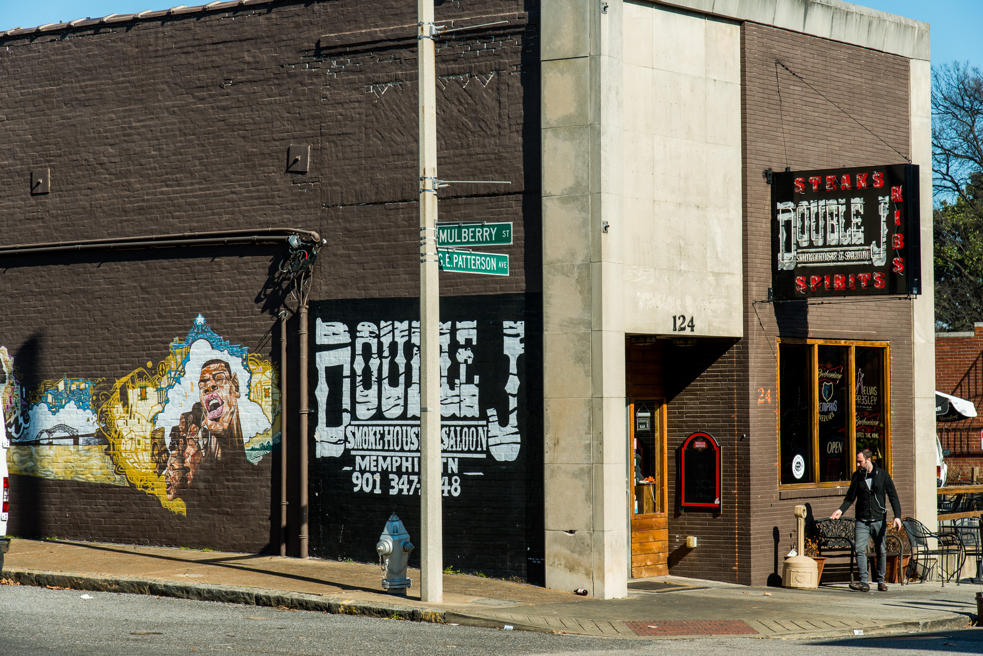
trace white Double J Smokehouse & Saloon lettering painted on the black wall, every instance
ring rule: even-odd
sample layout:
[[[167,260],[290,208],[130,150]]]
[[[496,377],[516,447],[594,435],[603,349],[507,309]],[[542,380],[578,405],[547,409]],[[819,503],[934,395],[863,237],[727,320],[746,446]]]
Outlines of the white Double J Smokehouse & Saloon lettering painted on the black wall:
[[[501,391],[508,410],[482,406],[479,393],[487,363],[475,361],[478,322],[440,322],[440,449],[447,473],[481,468],[482,460],[514,461],[522,447],[518,422],[520,387],[517,362],[524,353],[525,321],[503,320],[486,329],[499,330],[501,355],[508,373]],[[419,494],[420,471],[420,322],[315,322],[315,429],[318,458],[355,456],[352,483],[366,494],[379,487],[377,472],[387,472],[382,494]],[[328,383],[336,369],[340,385]],[[354,385],[353,385],[354,381]],[[338,425],[328,425],[331,409],[340,410]],[[334,423],[334,422],[330,422]],[[408,475],[400,475],[410,471]],[[467,471],[479,474],[480,471]],[[359,480],[356,480],[359,477]],[[449,478],[444,496],[460,494],[459,475]]]

